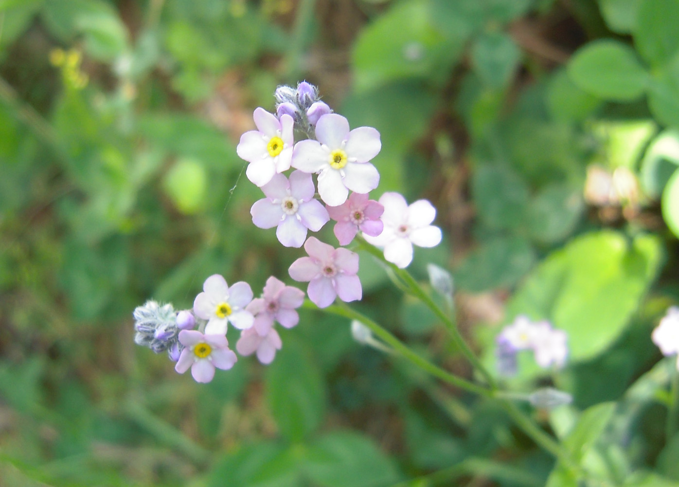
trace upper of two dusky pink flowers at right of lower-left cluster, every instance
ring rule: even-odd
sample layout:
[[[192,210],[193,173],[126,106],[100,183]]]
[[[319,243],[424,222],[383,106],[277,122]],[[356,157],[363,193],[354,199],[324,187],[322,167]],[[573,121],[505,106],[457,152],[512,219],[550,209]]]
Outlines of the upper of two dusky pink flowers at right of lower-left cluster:
[[[255,315],[255,325],[260,336],[265,337],[274,320],[285,328],[292,328],[299,322],[299,314],[295,308],[304,302],[304,291],[293,286],[286,286],[272,275],[266,280],[261,298],[255,298],[246,309]]]

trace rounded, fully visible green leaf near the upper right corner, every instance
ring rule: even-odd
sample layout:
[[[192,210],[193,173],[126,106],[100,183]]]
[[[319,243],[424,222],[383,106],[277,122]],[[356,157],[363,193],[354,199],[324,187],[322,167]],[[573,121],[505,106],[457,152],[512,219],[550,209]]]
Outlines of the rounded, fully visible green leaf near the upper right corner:
[[[593,41],[568,63],[568,75],[583,90],[603,99],[632,101],[648,84],[648,73],[634,50],[619,41]]]

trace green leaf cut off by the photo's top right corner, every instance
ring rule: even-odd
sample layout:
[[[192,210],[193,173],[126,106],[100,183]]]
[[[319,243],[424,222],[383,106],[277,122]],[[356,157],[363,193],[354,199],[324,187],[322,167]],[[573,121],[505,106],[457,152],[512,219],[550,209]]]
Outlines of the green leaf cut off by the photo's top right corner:
[[[679,31],[671,20],[676,18],[679,18],[679,0],[641,2],[634,44],[650,65],[663,65],[679,49]]]

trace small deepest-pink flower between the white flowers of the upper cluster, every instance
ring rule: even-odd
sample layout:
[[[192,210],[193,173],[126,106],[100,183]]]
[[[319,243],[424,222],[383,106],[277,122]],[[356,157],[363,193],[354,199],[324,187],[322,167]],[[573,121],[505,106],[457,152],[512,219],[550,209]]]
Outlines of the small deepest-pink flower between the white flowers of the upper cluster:
[[[359,229],[371,237],[377,237],[384,229],[384,223],[380,220],[384,206],[369,200],[368,195],[352,192],[342,205],[328,206],[327,210],[330,218],[337,222],[334,232],[339,245],[349,245]]]

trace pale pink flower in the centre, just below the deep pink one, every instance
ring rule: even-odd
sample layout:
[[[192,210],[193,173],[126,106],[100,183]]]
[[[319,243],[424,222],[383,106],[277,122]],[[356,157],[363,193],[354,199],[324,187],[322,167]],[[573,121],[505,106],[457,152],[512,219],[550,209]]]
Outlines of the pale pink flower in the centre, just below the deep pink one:
[[[308,257],[300,257],[290,266],[290,277],[309,282],[307,294],[318,307],[328,307],[339,296],[342,301],[361,299],[363,290],[359,271],[359,254],[346,248],[333,248],[316,237],[304,243]]]

